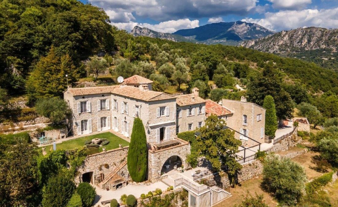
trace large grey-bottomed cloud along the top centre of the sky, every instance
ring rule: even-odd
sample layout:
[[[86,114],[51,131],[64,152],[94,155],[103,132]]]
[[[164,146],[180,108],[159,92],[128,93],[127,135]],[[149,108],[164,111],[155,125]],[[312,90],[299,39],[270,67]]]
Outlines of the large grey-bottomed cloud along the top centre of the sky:
[[[220,15],[246,15],[256,8],[258,0],[89,0],[105,11],[136,14],[156,21]],[[117,16],[111,19],[117,21]],[[125,19],[124,19],[125,20]],[[126,22],[125,22],[126,23]]]

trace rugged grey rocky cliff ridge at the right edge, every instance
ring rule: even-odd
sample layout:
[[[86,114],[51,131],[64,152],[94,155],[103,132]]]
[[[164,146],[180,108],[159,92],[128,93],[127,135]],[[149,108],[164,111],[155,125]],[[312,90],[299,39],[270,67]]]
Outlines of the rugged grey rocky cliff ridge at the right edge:
[[[297,28],[267,37],[241,42],[240,46],[268,53],[297,53],[304,50],[338,49],[338,29]]]

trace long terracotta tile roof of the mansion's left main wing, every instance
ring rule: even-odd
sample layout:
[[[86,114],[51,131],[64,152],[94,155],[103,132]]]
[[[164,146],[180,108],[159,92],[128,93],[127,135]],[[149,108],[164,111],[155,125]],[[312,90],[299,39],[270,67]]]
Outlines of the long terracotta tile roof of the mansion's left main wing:
[[[145,90],[134,86],[99,86],[99,87],[85,87],[85,88],[68,88],[67,89],[73,96],[85,96],[94,94],[116,94],[129,98],[134,98],[142,101],[158,101],[166,99],[175,99],[175,96],[165,94],[163,92]],[[66,90],[66,91],[67,91]]]

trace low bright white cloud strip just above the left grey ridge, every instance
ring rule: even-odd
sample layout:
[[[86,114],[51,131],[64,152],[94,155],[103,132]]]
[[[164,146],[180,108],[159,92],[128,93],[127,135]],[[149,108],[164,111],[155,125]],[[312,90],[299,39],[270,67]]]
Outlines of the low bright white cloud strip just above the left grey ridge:
[[[137,25],[140,27],[146,27],[148,29],[155,30],[156,32],[174,33],[179,29],[191,29],[198,27],[199,21],[189,19],[179,19],[165,21],[159,24],[137,23],[132,21],[127,23],[112,23],[112,24],[118,27],[119,29],[125,29],[128,32]]]

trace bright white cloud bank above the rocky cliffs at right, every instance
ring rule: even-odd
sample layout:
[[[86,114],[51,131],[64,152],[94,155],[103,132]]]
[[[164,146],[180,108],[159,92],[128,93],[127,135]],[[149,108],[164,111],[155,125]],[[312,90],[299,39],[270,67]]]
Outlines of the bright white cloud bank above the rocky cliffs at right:
[[[263,19],[246,18],[242,21],[257,23],[270,30],[280,31],[298,27],[338,27],[338,8],[305,9],[301,11],[268,12]]]

